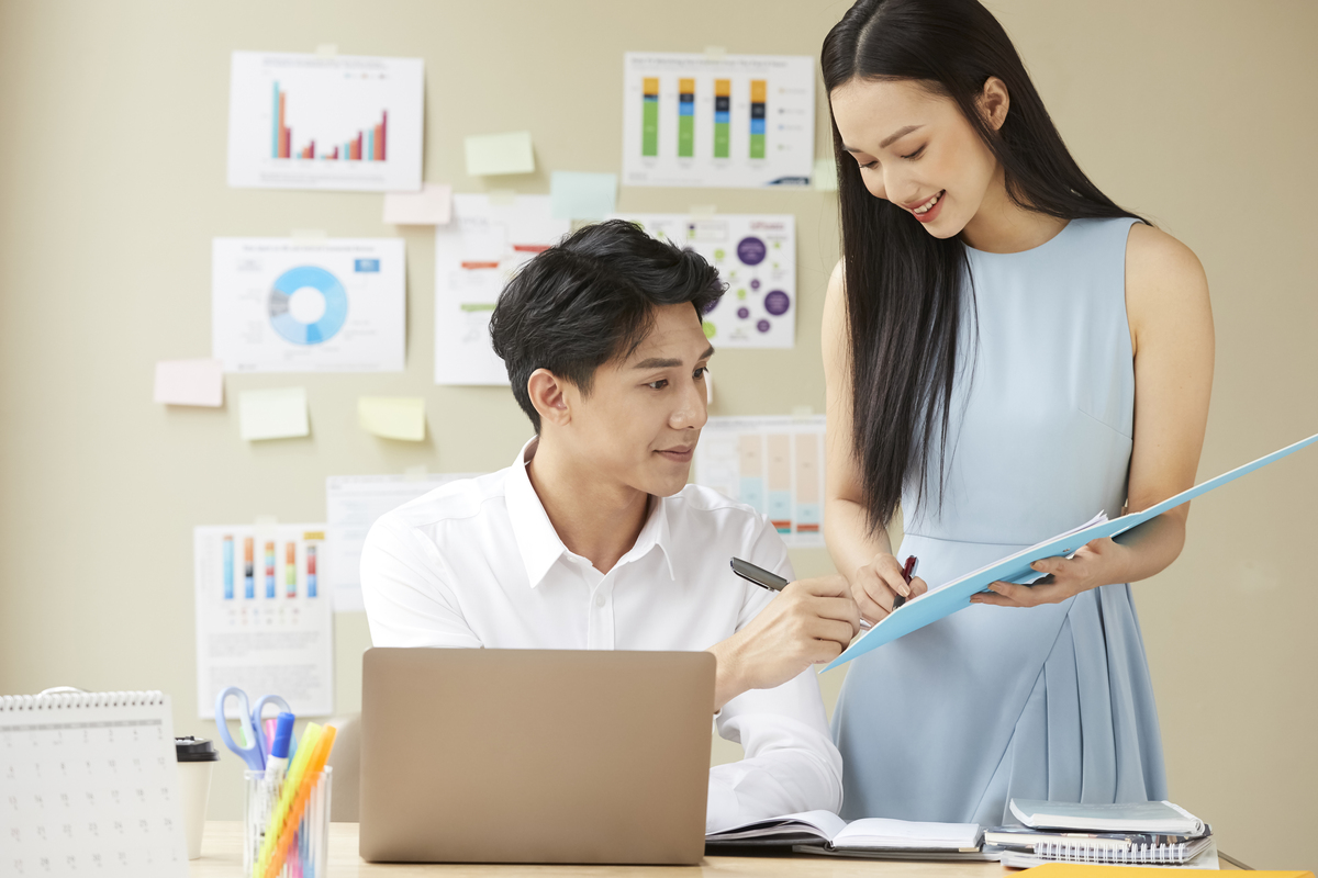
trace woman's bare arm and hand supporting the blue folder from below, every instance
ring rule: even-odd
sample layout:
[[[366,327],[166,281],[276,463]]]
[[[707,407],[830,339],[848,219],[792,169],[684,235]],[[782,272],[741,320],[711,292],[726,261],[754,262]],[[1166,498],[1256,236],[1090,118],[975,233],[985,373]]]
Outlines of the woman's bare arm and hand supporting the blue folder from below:
[[[1126,245],[1126,313],[1135,350],[1135,437],[1128,512],[1194,484],[1213,391],[1213,309],[1203,266],[1184,244],[1136,222]],[[1178,505],[1114,540],[1095,540],[1072,559],[1033,565],[1049,579],[998,582],[974,603],[1033,607],[1097,586],[1147,579],[1185,545],[1190,504]]]

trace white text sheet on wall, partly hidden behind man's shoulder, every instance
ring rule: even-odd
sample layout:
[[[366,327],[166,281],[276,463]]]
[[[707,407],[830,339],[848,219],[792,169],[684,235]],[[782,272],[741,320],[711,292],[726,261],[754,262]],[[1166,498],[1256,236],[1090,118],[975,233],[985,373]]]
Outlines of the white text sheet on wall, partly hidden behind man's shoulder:
[[[324,587],[335,612],[361,612],[361,546],[376,519],[442,484],[476,473],[410,475],[331,475],[326,479]]]

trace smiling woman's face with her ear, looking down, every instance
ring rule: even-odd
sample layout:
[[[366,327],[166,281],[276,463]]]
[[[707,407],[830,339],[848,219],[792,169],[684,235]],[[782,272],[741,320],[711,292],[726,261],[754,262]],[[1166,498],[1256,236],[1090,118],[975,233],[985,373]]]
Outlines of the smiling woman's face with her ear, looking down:
[[[960,234],[979,212],[998,159],[950,97],[909,79],[853,79],[829,101],[871,195],[907,211],[936,238]],[[1002,126],[1007,91],[999,79],[985,84],[981,112],[992,129]]]

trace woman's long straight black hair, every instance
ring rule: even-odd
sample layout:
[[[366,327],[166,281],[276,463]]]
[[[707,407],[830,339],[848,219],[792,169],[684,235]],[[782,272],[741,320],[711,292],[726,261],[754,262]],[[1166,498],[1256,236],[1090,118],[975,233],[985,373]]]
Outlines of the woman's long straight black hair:
[[[977,0],[859,0],[824,39],[821,61],[829,93],[855,79],[908,79],[954,100],[1002,165],[1008,196],[1027,209],[1065,220],[1140,219],[1079,170],[1007,33]],[[996,132],[977,104],[990,76],[1006,84],[1011,100]],[[960,238],[936,238],[903,208],[870,195],[859,166],[842,150],[836,120],[833,151],[851,450],[869,527],[878,530],[891,521],[908,478],[924,499],[931,463],[938,466],[941,504],[966,249]]]

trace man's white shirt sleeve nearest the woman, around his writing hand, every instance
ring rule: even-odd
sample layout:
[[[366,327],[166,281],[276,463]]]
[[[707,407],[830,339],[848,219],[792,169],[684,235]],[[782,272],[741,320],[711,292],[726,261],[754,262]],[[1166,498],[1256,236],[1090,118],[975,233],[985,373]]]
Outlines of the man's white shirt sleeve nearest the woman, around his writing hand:
[[[795,579],[787,546],[760,516],[747,561]],[[737,629],[774,595],[750,587]],[[718,735],[745,748],[746,758],[709,770],[705,832],[801,811],[842,807],[842,756],[833,745],[813,667],[776,688],[742,692],[717,715]]]

